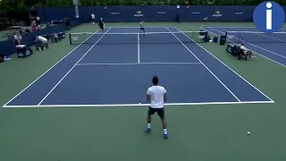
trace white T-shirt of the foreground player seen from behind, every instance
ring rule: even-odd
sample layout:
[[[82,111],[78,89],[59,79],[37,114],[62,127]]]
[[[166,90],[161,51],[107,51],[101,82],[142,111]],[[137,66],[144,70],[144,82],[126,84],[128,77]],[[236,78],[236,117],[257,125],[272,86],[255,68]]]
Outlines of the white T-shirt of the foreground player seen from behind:
[[[163,108],[164,107],[164,93],[166,89],[162,86],[152,86],[147,89],[147,95],[150,95],[152,108]]]

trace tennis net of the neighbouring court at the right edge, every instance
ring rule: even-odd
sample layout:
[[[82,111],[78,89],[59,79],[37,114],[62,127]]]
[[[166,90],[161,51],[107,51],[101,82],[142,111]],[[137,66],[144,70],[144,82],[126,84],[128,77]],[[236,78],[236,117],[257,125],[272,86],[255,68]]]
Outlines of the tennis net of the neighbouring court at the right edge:
[[[286,43],[286,32],[227,31],[227,42]]]

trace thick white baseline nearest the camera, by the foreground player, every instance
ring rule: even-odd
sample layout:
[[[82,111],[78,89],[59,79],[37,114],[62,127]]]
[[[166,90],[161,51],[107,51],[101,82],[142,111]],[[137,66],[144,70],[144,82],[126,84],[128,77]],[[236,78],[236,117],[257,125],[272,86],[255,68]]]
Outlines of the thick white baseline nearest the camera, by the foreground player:
[[[199,106],[199,105],[235,105],[235,104],[271,104],[273,101],[242,101],[242,102],[199,102],[199,103],[169,103],[164,106]],[[3,106],[4,108],[34,108],[34,107],[107,107],[107,106],[150,106],[150,104],[119,104],[119,105],[41,105],[41,106]]]

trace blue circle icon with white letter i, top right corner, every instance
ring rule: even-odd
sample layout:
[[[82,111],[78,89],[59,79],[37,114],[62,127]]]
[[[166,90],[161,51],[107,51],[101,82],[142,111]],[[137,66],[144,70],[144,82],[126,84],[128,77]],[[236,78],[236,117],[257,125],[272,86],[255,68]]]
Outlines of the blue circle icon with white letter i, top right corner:
[[[280,4],[265,1],[258,4],[253,12],[253,22],[262,32],[276,32],[282,29],[285,13]]]

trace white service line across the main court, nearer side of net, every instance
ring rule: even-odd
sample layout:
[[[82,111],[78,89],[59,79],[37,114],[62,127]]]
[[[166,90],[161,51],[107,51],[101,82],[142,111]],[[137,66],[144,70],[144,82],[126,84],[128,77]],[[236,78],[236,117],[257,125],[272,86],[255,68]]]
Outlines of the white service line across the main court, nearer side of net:
[[[77,64],[77,66],[88,66],[88,65],[137,65],[138,63],[125,63],[125,64]],[[166,62],[166,63],[140,63],[140,64],[201,64],[199,62]]]

